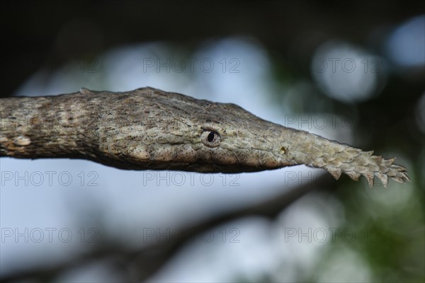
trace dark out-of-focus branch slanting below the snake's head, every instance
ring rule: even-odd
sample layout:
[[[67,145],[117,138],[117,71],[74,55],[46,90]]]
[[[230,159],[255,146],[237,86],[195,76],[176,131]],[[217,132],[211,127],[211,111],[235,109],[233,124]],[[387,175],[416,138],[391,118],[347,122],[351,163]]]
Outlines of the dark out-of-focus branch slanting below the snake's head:
[[[101,243],[84,255],[77,258],[70,258],[67,262],[48,267],[35,267],[31,270],[16,272],[1,279],[4,282],[24,279],[45,282],[46,280],[54,280],[63,272],[87,265],[91,262],[108,261],[108,264],[114,265],[114,270],[122,271],[123,276],[127,277],[123,278],[124,280],[145,280],[160,270],[191,238],[199,233],[244,216],[256,215],[274,219],[284,209],[289,207],[290,204],[293,204],[293,202],[299,200],[308,192],[317,189],[331,190],[333,187],[330,180],[331,177],[329,175],[324,175],[314,180],[314,182],[283,192],[271,200],[205,219],[203,222],[190,225],[191,229],[188,229],[188,233],[179,233],[174,238],[170,238],[169,241],[154,243],[137,250],[129,250],[118,243]]]

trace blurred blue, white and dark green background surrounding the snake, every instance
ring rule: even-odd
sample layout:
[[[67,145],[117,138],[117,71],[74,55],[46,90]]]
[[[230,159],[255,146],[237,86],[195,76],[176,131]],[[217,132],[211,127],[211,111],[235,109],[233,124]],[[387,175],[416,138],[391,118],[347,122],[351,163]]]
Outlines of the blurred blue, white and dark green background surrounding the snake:
[[[368,187],[0,159],[0,279],[424,282],[423,1],[1,1],[1,97],[152,86],[407,167]]]

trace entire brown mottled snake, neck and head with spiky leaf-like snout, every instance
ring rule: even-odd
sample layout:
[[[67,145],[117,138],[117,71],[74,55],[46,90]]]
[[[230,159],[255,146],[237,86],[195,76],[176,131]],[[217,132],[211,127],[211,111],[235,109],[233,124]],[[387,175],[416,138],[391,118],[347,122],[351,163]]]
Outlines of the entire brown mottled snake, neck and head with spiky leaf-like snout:
[[[209,173],[305,164],[336,179],[405,183],[395,158],[373,156],[262,120],[234,104],[154,88],[0,100],[0,156],[84,158],[116,168]]]

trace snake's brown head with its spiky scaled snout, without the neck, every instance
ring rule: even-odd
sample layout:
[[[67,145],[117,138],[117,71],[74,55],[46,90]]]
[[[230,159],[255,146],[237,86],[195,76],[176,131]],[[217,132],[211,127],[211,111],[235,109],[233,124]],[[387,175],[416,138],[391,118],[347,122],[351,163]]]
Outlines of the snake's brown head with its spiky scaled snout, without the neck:
[[[409,180],[393,158],[268,122],[237,105],[142,90],[123,97],[125,110],[110,110],[120,127],[100,131],[101,150],[125,168],[241,173],[305,164],[334,178],[364,175],[370,185],[375,176],[385,186],[388,178]]]

